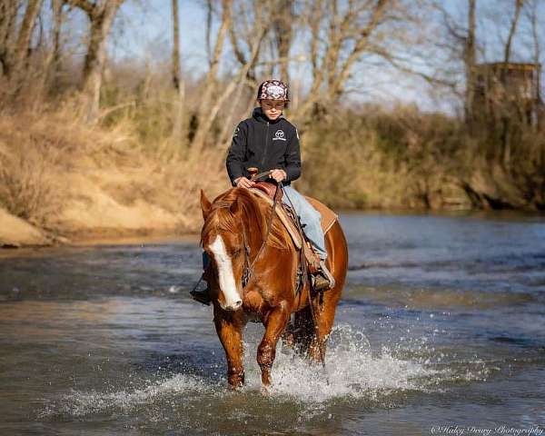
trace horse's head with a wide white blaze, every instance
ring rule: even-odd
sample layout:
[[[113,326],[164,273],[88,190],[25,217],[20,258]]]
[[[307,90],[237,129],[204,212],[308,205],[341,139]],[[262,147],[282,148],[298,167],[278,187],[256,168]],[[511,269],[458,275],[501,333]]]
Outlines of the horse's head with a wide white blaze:
[[[206,277],[223,310],[236,311],[243,305],[244,240],[240,207],[235,198],[230,203],[210,203],[201,191],[203,231],[201,242],[213,263],[213,273]]]

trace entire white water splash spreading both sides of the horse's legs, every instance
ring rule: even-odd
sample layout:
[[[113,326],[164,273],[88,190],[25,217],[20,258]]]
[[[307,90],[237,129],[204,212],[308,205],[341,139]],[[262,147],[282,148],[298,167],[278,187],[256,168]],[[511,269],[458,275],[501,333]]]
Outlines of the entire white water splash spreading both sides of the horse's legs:
[[[481,371],[470,371],[467,367],[463,372],[453,371],[449,365],[440,363],[444,354],[429,347],[426,338],[421,342],[407,339],[397,349],[383,346],[372,350],[363,332],[344,324],[335,327],[330,335],[325,369],[322,365],[310,365],[292,349],[279,344],[272,368],[272,386],[264,391],[255,362],[258,341],[253,339],[245,343],[246,384],[240,391],[230,391],[224,377],[211,381],[202,376],[177,374],[160,381],[147,381],[142,389],[132,391],[72,391],[60,402],[50,404],[42,416],[129,412],[183,400],[184,407],[193,411],[211,402],[243,403],[242,408],[229,406],[234,414],[251,412],[256,401],[292,403],[308,417],[322,413],[331,401],[358,400],[370,406],[383,405],[403,392],[442,391],[445,383],[479,381],[488,375],[483,362],[476,362],[474,366],[478,368],[473,368]],[[407,349],[414,352],[412,357],[406,355]],[[415,354],[419,357],[414,357]]]

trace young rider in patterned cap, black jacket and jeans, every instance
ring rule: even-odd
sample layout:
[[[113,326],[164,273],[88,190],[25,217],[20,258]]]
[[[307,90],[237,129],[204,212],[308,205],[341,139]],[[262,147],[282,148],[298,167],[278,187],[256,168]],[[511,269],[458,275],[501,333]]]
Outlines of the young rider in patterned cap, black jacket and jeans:
[[[322,288],[335,285],[332,273],[325,266],[327,252],[320,225],[321,215],[291,183],[301,175],[299,134],[293,124],[282,116],[289,102],[288,87],[279,80],[266,80],[259,86],[257,102],[252,118],[243,120],[233,134],[233,142],[227,155],[227,173],[233,186],[250,188],[248,168],[257,167],[260,173],[270,171],[270,178],[282,182],[282,203],[290,204],[299,215],[306,238],[320,256],[319,277]],[[205,263],[206,264],[206,263]],[[325,279],[325,280],[323,280]],[[209,302],[208,290],[192,292],[199,302]]]

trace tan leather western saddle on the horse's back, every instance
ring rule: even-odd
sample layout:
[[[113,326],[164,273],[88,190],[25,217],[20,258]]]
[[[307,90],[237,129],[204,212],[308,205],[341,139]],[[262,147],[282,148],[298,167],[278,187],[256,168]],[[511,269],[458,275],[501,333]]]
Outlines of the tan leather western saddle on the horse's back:
[[[273,183],[257,182],[253,185],[250,191],[253,194],[263,198],[267,203],[272,206],[272,204],[274,203],[274,194],[276,193],[277,189],[277,186]],[[310,243],[307,243],[304,240],[304,236],[299,231],[299,225],[295,222],[295,220],[297,220],[297,215],[290,206],[282,203],[282,195],[283,192],[281,191],[279,193],[278,203],[280,207],[277,207],[276,214],[280,218],[280,221],[284,225],[287,232],[290,233],[293,244],[295,245],[297,250],[302,249],[304,253],[304,258],[307,261],[310,271],[315,272],[320,267],[320,258],[316,253],[313,252]],[[322,231],[323,234],[326,234],[332,228],[332,225],[335,223],[335,221],[338,219],[338,215],[325,204],[320,203],[318,200],[307,196],[305,196],[305,198],[309,201],[309,203],[312,204],[312,207],[314,207],[314,209],[316,209],[320,213],[320,223],[322,225]]]

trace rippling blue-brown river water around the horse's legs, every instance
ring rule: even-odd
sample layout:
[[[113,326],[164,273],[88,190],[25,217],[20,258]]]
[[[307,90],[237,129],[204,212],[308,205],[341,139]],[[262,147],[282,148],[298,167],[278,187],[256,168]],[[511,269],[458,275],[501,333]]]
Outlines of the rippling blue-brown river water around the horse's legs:
[[[0,254],[0,434],[545,434],[545,217],[341,222],[329,384],[279,345],[266,392],[261,324],[226,386],[196,242]]]

